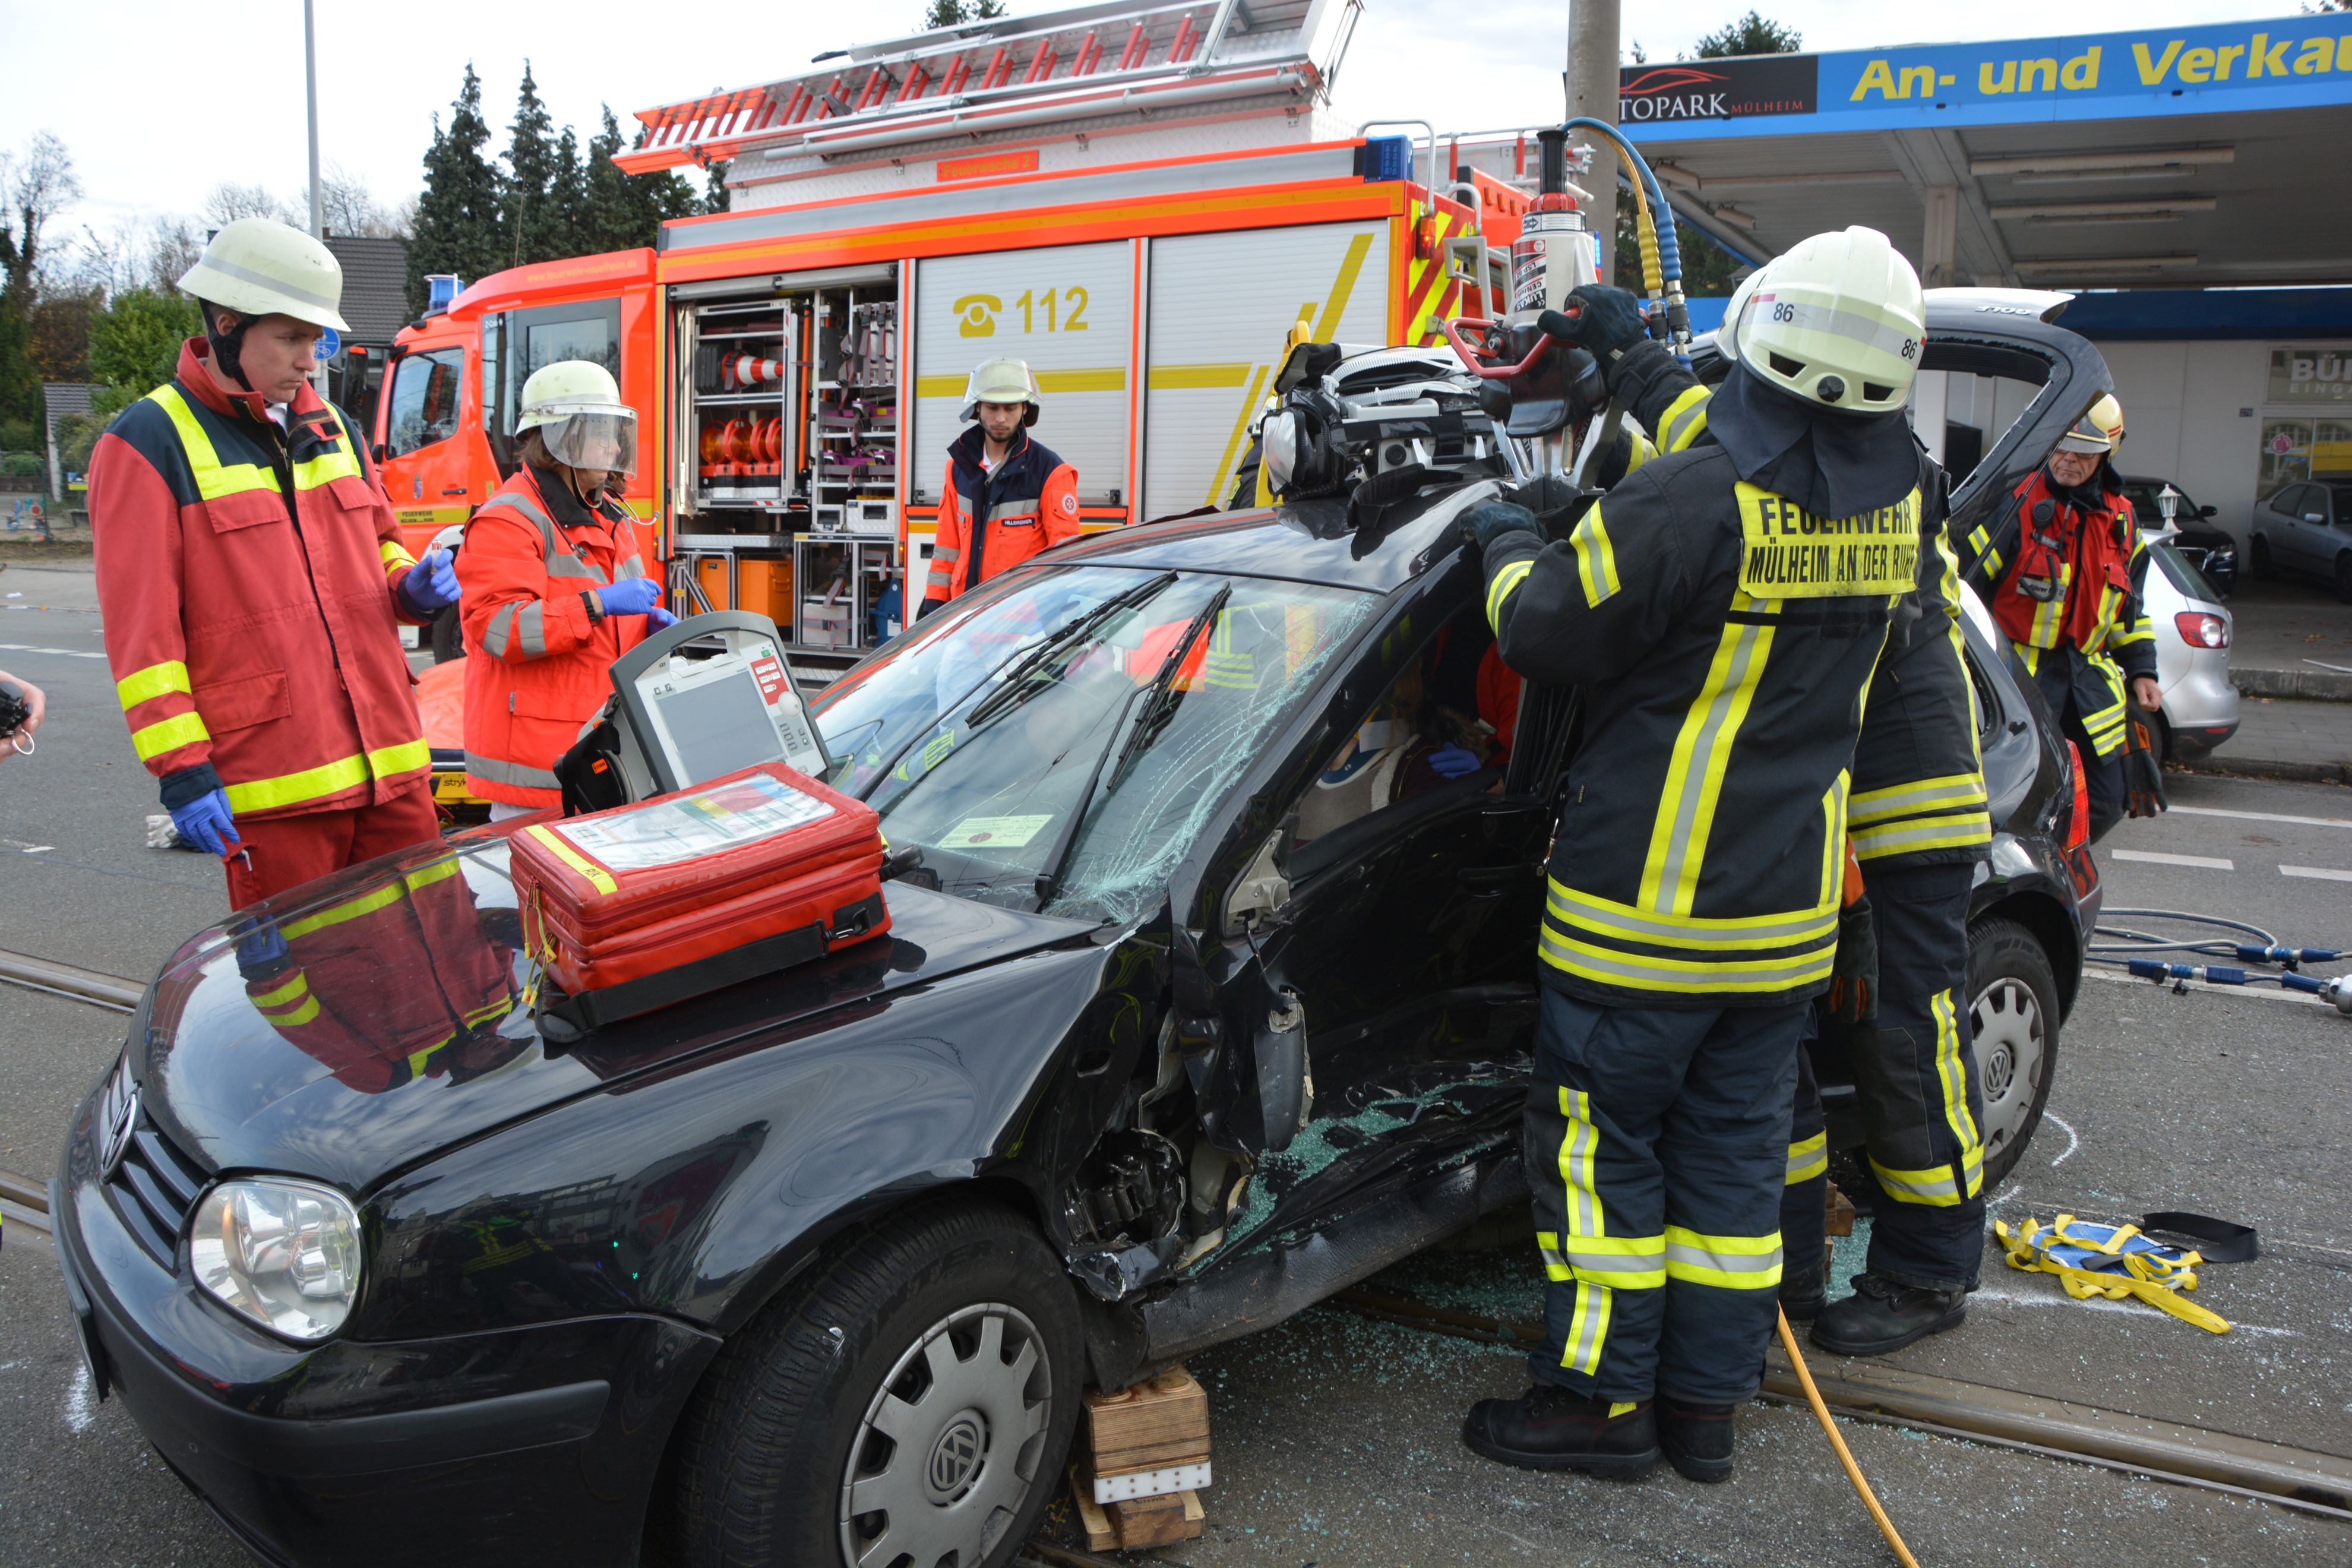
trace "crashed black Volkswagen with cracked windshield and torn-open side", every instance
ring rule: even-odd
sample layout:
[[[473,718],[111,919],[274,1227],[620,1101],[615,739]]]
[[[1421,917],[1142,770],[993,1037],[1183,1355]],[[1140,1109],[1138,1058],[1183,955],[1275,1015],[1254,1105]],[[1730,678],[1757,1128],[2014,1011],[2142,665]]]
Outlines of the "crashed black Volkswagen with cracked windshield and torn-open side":
[[[1931,329],[2046,381],[1966,524],[2105,371]],[[1491,489],[1098,536],[894,639],[816,717],[924,858],[802,969],[543,1039],[494,832],[188,940],[52,1185],[96,1387],[270,1561],[1009,1561],[1082,1387],[1526,1213],[1576,698],[1477,696]],[[1992,1185],[2096,877],[2063,741],[1969,651]],[[1501,766],[1428,766],[1482,726]]]

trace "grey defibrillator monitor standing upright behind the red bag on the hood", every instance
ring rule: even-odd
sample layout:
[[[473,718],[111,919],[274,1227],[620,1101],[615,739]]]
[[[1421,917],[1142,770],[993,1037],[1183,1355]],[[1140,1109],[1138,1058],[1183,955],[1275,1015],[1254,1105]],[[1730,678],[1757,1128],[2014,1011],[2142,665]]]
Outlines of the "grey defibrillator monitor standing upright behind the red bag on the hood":
[[[826,771],[826,748],[767,616],[741,609],[687,616],[616,658],[612,689],[633,799],[760,762],[809,778]]]

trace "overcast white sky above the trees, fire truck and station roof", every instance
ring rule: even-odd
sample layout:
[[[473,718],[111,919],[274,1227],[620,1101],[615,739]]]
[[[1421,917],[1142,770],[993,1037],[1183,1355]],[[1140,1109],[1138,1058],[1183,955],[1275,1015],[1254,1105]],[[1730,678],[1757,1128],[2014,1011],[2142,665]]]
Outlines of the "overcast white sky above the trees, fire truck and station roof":
[[[433,113],[447,118],[470,59],[494,148],[506,143],[529,56],[557,125],[581,139],[597,103],[630,110],[800,71],[821,49],[917,26],[922,0],[318,0],[320,148],[390,207],[421,181]],[[1016,14],[1054,9],[1014,0]],[[1672,59],[1748,9],[1625,7],[1625,42]],[[2032,38],[2279,16],[2291,0],[2136,0],[2056,12],[2027,0],[1766,0],[1806,49]],[[1439,129],[1536,125],[1559,115],[1562,0],[1369,0],[1341,71],[1350,118],[1409,115]],[[1468,26],[1465,19],[1479,19]],[[2053,19],[2058,26],[2053,26]],[[301,0],[0,0],[0,150],[56,132],[85,200],[68,223],[193,214],[216,181],[294,197],[306,181]]]

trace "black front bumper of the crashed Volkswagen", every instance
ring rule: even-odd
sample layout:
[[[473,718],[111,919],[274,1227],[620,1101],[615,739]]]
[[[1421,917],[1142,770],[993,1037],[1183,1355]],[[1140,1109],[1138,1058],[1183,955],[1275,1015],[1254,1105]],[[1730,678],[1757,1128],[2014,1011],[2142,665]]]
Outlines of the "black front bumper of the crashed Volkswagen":
[[[661,1450],[715,1335],[602,1316],[287,1345],[139,1246],[96,1182],[87,1110],[49,1213],[99,1396],[120,1394],[263,1561],[637,1561]]]

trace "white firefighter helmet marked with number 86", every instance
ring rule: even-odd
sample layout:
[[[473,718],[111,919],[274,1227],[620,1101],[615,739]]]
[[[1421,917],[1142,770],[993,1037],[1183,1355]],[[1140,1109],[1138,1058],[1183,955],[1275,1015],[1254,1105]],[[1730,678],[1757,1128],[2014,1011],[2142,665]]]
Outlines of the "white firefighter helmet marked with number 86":
[[[1839,414],[1893,414],[1910,397],[1926,296],[1879,230],[1802,240],[1740,294],[1738,317],[1726,320],[1750,374]]]

